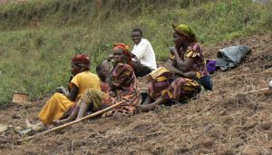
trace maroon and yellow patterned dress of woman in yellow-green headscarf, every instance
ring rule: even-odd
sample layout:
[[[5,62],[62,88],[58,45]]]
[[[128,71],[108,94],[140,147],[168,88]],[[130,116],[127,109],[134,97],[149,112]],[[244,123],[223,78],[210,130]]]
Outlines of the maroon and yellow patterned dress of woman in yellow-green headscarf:
[[[200,45],[198,43],[190,44],[186,51],[181,50],[179,54],[182,60],[185,58],[196,58],[190,69],[192,72],[196,72],[197,79],[178,77],[170,71],[159,73],[157,77],[152,78],[151,87],[149,87],[149,95],[154,100],[161,96],[165,99],[182,102],[196,96],[200,92],[199,82],[195,80],[208,75]],[[175,55],[171,54],[170,60],[176,61]]]

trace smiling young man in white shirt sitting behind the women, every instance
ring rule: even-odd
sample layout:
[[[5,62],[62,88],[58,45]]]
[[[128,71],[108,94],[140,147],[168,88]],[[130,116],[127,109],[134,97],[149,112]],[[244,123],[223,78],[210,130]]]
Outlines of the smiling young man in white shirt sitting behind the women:
[[[132,67],[136,77],[147,75],[157,69],[156,57],[151,43],[142,36],[140,28],[131,31],[131,39],[134,43],[131,51]]]

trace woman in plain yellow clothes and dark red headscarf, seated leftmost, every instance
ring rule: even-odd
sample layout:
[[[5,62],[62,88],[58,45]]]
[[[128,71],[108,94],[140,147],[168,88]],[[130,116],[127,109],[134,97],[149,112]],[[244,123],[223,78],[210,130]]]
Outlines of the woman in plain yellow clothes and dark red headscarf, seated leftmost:
[[[57,88],[57,92],[49,99],[42,111],[39,119],[44,125],[50,125],[53,120],[63,117],[63,113],[72,108],[88,88],[100,90],[100,80],[98,76],[90,72],[90,60],[84,54],[75,55],[72,60],[73,79],[69,83],[69,92],[63,86]]]

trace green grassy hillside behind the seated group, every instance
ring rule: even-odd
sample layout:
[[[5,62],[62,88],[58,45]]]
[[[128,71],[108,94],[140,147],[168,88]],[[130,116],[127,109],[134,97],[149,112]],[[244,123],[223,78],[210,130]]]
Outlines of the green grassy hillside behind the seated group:
[[[205,3],[203,3],[205,2]],[[32,100],[65,85],[70,60],[86,53],[95,65],[114,43],[132,46],[130,31],[140,27],[157,59],[168,57],[171,23],[189,24],[201,44],[272,30],[270,5],[251,1],[30,0],[0,5],[0,104],[12,92]]]

